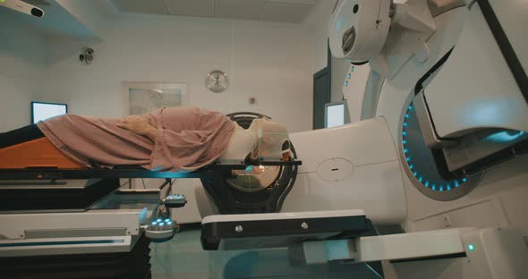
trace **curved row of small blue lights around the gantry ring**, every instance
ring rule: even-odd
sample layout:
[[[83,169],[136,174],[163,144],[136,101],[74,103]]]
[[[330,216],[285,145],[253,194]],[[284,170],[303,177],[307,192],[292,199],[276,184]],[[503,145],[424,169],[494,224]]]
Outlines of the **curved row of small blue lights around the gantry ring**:
[[[465,182],[467,182],[467,178],[463,178],[462,181],[453,180],[453,181],[447,181],[447,182],[438,182],[438,181],[431,180],[427,177],[424,177],[416,170],[417,167],[416,167],[416,164],[413,164],[410,150],[407,147],[408,141],[406,139],[407,134],[408,134],[407,128],[409,126],[408,121],[409,119],[412,118],[413,109],[414,109],[413,105],[408,106],[407,111],[405,112],[405,121],[403,123],[403,129],[402,129],[402,145],[403,145],[402,149],[404,151],[405,162],[407,163],[407,167],[413,173],[414,178],[418,182],[420,182],[420,184],[422,184],[423,187],[429,188],[430,190],[433,190],[433,191],[440,191],[440,192],[455,190],[456,188],[460,187]]]

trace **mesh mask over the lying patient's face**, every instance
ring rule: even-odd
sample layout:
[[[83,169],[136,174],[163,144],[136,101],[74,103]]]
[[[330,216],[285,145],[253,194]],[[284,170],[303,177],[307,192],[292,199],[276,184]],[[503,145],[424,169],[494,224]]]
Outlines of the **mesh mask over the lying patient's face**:
[[[255,119],[251,126],[257,130],[257,145],[261,157],[282,157],[289,152],[289,137],[286,127],[268,119]]]

